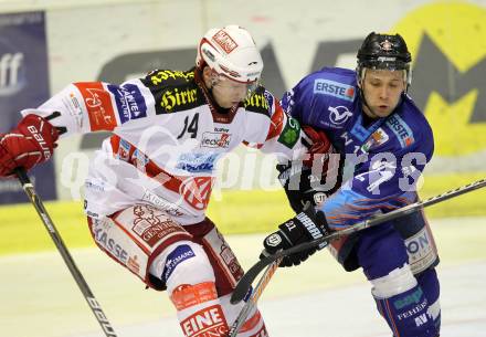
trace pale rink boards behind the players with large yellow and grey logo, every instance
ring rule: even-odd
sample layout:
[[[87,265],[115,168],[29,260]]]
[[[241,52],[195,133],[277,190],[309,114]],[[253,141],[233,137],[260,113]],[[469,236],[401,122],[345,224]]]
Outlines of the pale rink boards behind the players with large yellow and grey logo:
[[[189,69],[199,39],[213,27],[237,23],[251,31],[265,63],[263,83],[276,96],[325,65],[353,69],[356,51],[369,32],[399,32],[413,56],[410,93],[435,134],[435,158],[426,177],[450,181],[486,170],[486,0],[24,0],[0,1],[0,131],[17,123],[11,116],[19,108],[34,107],[71,82],[122,83],[156,67]],[[20,42],[32,30],[38,33]],[[19,53],[21,60],[12,64]],[[42,67],[47,78],[41,76]],[[28,88],[47,91],[27,101],[9,91],[12,76]],[[86,159],[104,136],[62,141],[53,177],[41,175],[50,181],[41,194],[81,199]],[[240,149],[239,157],[222,165],[223,188],[277,188],[273,161],[258,154]],[[15,189],[15,181],[0,181],[0,194]]]

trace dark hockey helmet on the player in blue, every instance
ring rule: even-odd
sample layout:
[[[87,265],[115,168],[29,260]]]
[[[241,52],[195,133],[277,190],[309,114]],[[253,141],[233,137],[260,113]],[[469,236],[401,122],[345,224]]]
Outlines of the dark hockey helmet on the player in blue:
[[[405,71],[405,82],[410,85],[412,74],[410,63],[412,55],[406,48],[405,40],[400,34],[378,34],[371,32],[364,39],[358,51],[358,81],[363,78],[366,69]]]

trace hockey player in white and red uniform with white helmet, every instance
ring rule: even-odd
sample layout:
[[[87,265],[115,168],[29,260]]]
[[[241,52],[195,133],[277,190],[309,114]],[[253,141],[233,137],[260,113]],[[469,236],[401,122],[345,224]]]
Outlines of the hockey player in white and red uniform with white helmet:
[[[156,70],[122,85],[70,84],[0,135],[0,176],[50,159],[57,138],[112,131],[85,185],[96,244],[167,292],[184,336],[224,336],[242,307],[229,298],[243,270],[205,217],[216,161],[241,143],[286,159],[309,144],[329,148],[260,85],[262,70],[250,33],[228,25],[204,34],[192,70]],[[257,309],[239,336],[267,336]]]

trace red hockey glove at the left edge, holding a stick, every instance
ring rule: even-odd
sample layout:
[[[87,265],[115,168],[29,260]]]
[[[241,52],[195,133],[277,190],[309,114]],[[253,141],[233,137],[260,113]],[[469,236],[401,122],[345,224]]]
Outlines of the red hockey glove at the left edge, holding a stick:
[[[47,120],[27,115],[8,134],[0,134],[0,177],[8,177],[13,169],[33,166],[49,160],[56,147],[59,133]]]

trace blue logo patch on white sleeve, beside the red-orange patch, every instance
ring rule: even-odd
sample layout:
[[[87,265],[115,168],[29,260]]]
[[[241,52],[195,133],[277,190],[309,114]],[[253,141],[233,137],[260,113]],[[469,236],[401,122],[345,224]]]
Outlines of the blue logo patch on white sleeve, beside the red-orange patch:
[[[115,97],[122,124],[130,119],[147,117],[147,105],[138,86],[135,84],[125,84],[123,86],[108,84],[107,87]]]

